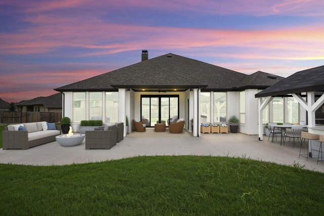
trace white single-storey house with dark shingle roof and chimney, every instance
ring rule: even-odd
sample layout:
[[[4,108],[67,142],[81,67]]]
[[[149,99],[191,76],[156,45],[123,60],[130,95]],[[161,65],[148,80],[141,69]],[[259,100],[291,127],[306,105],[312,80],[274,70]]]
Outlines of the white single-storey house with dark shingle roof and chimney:
[[[235,115],[240,120],[239,132],[258,134],[254,95],[282,79],[261,71],[246,75],[173,53],[148,59],[143,50],[140,63],[55,90],[64,95],[63,115],[71,118],[74,131],[82,120],[114,123],[126,122],[128,117],[131,123],[145,118],[153,127],[157,121],[178,116],[185,120],[188,131],[193,120],[193,136],[200,136],[200,123],[228,123]],[[295,105],[276,98],[264,111],[264,123],[299,121],[299,106],[296,117]],[[290,119],[277,114],[286,106],[294,112]]]

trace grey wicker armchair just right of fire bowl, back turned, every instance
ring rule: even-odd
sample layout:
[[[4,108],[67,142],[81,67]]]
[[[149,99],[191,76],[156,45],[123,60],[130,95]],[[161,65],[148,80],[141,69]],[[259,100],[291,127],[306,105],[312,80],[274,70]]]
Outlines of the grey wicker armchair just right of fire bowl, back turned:
[[[110,149],[116,145],[116,125],[106,126],[104,130],[86,131],[86,149]]]

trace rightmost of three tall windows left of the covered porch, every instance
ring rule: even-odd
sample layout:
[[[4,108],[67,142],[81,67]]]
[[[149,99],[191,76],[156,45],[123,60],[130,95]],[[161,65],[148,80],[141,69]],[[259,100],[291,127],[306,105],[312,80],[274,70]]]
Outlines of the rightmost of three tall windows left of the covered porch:
[[[106,92],[105,122],[118,122],[118,92]]]

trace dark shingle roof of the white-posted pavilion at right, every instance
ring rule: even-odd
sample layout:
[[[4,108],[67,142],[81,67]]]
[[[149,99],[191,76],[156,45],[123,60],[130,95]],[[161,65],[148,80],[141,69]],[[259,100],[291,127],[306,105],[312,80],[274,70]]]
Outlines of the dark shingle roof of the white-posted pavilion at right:
[[[257,93],[256,97],[324,90],[324,65],[296,72],[280,82]]]

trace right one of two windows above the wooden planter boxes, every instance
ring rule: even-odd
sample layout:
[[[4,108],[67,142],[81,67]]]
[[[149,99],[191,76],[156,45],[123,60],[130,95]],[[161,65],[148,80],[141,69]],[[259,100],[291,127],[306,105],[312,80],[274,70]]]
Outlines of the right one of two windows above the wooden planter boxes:
[[[226,122],[226,92],[214,92],[214,122]]]

